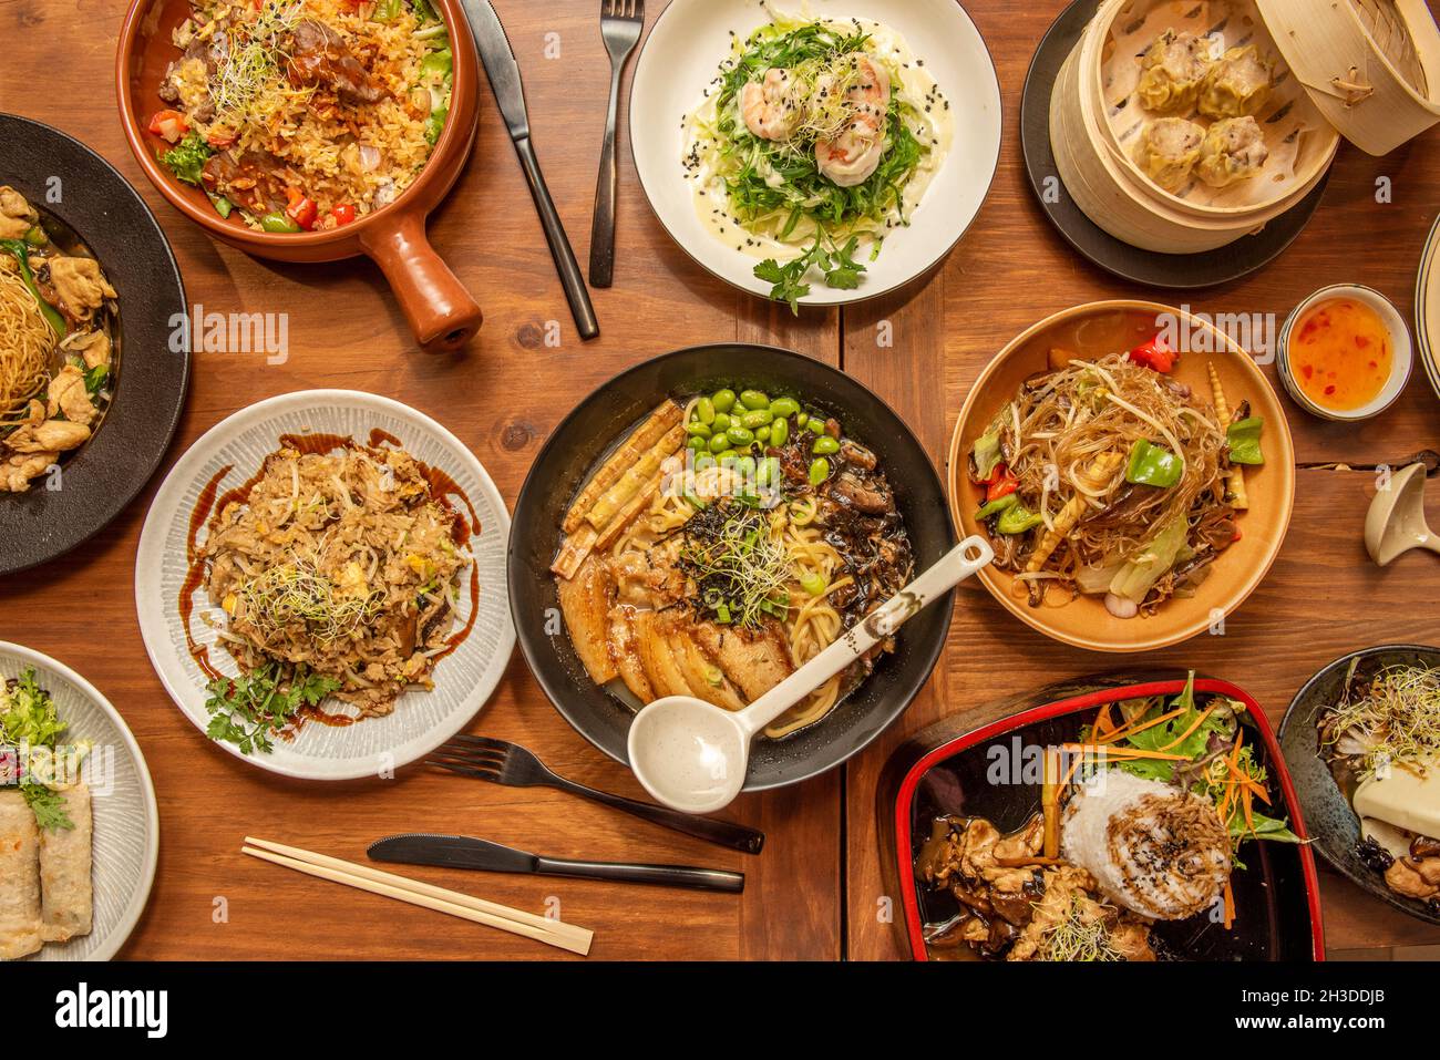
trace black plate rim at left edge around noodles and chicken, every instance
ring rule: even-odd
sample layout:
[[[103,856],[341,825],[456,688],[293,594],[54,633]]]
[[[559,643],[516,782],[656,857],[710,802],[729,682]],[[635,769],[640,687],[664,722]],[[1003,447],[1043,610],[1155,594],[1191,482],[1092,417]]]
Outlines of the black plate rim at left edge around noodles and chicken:
[[[180,422],[190,346],[174,330],[187,304],[170,243],[109,163],[49,125],[0,114],[0,184],[73,233],[120,295],[114,398],[94,436],[62,457],[58,475],[0,493],[3,576],[84,543],[140,493]]]

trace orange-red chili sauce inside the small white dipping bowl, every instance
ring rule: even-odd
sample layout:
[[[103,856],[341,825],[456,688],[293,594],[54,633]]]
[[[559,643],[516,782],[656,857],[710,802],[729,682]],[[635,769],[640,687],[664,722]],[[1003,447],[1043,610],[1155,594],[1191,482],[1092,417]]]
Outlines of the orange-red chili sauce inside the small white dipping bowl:
[[[1349,412],[1380,396],[1395,357],[1390,330],[1369,305],[1329,298],[1290,333],[1290,369],[1316,405]]]

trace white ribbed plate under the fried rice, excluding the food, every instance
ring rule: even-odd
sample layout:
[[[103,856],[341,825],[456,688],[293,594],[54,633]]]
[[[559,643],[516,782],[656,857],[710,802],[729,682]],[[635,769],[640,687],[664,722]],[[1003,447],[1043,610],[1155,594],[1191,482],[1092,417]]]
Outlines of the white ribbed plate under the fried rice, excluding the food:
[[[251,405],[210,428],[166,477],[140,534],[135,611],[145,651],[170,697],[204,732],[209,722],[206,675],[190,657],[180,616],[186,537],[200,493],[226,465],[233,470],[220,480],[220,494],[246,481],[266,454],[279,448],[282,434],[331,434],[363,444],[376,428],[397,438],[416,459],[449,475],[480,517],[480,533],[469,542],[480,567],[475,628],[435,667],[433,691],[405,693],[384,717],[343,727],[311,723],[294,740],[276,740],[268,755],[240,755],[232,743],[217,745],[285,776],[347,781],[383,775],[448,740],[490,699],[516,644],[505,590],[510,514],[495,484],[455,435],[415,409],[356,390],[300,390]],[[200,540],[204,540],[204,530]],[[203,586],[196,590],[194,602],[192,634],[197,644],[213,644],[215,631],[202,621],[210,608]],[[465,578],[459,614],[469,615],[469,579]],[[220,647],[212,648],[210,662],[225,674],[238,673],[235,660]]]

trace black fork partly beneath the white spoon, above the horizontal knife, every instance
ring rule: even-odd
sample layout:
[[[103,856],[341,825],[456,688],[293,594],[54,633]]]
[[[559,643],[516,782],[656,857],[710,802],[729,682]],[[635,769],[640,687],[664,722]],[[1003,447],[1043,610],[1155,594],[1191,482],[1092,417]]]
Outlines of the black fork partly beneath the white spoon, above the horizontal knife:
[[[557,788],[588,798],[592,802],[624,809],[626,814],[644,818],[651,824],[671,828],[685,835],[717,843],[732,850],[743,850],[746,854],[759,854],[765,845],[765,832],[746,828],[729,821],[716,821],[708,817],[681,814],[667,807],[655,807],[649,802],[636,802],[622,795],[611,795],[606,791],[586,788],[583,783],[567,781],[552,772],[544,762],[526,750],[518,743],[492,740],[488,736],[456,736],[448,743],[442,743],[431,758],[425,759],[428,766],[449,769],[461,776],[472,776],[477,781],[490,781],[507,788]]]

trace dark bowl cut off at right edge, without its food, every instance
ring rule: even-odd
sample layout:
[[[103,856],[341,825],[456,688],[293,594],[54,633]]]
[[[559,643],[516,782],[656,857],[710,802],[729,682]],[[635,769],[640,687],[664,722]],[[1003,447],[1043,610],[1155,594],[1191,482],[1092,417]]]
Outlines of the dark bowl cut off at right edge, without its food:
[[[1416,919],[1440,923],[1440,912],[1418,899],[1407,899],[1385,886],[1382,873],[1371,868],[1359,857],[1359,817],[1349,798],[1335,782],[1329,765],[1320,758],[1320,736],[1316,723],[1320,713],[1338,703],[1345,691],[1345,675],[1351,661],[1358,661],[1358,673],[1390,665],[1440,667],[1440,648],[1420,644],[1385,644],[1355,651],[1320,670],[1295,694],[1290,709],[1280,722],[1280,749],[1290,765],[1300,808],[1310,824],[1310,835],[1320,857],[1361,890]]]

